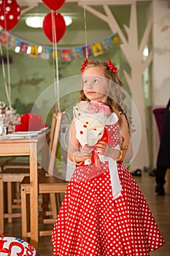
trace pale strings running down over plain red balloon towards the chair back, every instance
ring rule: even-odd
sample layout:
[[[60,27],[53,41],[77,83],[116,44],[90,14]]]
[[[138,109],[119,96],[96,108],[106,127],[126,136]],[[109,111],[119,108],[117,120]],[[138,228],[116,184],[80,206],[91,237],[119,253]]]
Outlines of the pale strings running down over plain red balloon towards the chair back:
[[[54,72],[54,82],[55,82],[55,98],[57,100],[56,108],[59,112],[61,112],[60,100],[59,100],[59,77],[58,77],[58,48],[57,48],[57,35],[56,35],[56,27],[55,27],[55,13],[52,12],[52,25],[53,25],[53,50],[55,53],[55,64],[53,67],[55,68]]]

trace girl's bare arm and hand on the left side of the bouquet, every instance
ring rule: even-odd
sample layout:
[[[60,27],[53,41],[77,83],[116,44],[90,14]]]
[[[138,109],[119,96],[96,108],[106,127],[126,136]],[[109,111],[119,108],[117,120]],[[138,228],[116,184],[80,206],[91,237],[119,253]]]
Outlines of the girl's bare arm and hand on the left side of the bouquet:
[[[69,150],[68,150],[68,157],[72,162],[79,162],[85,161],[86,159],[90,159],[93,155],[93,151],[85,146],[80,150],[80,143],[79,140],[76,138],[76,127],[74,121],[71,124],[71,131],[70,131],[70,139],[69,139]]]

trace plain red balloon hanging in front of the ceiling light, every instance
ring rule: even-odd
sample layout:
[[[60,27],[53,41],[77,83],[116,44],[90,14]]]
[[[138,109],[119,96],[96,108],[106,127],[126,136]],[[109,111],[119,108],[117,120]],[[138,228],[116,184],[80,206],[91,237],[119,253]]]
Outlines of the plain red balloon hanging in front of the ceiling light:
[[[56,34],[56,42],[58,42],[66,31],[66,23],[60,13],[50,12],[44,18],[42,29],[51,42],[55,42]]]

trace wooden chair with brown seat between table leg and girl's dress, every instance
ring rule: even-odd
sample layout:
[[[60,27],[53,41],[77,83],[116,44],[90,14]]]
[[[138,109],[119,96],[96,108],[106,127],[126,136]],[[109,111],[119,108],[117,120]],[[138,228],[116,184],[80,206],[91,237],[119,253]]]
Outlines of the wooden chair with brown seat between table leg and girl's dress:
[[[68,182],[61,180],[60,178],[56,178],[53,176],[53,169],[55,166],[55,156],[58,151],[58,137],[59,132],[61,128],[61,113],[58,113],[57,115],[57,123],[55,125],[55,132],[53,137],[53,145],[52,145],[52,151],[50,155],[50,162],[48,166],[48,173],[50,173],[50,176],[39,176],[39,194],[50,194],[50,202],[51,202],[51,208],[53,212],[53,217],[51,219],[42,219],[42,223],[50,224],[55,222],[55,219],[58,214],[58,210],[60,208],[60,201],[58,200],[58,195],[61,192],[66,191],[66,187],[68,186]],[[30,183],[29,179],[26,177],[23,179],[23,181],[20,184],[21,187],[21,206],[22,206],[22,237],[23,240],[26,240],[30,236],[30,232],[28,231],[28,211],[26,211],[26,206],[28,206],[28,197],[26,195],[30,194]],[[57,198],[56,198],[57,196]],[[47,227],[45,230],[39,230],[39,236],[50,236],[51,235],[51,229],[47,230]]]

